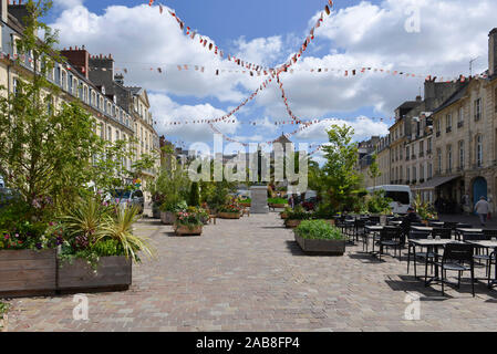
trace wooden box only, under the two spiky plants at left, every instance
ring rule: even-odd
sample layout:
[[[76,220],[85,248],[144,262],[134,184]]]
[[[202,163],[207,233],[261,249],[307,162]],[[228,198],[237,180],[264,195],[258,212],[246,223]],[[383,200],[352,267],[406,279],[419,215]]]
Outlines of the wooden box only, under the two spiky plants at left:
[[[83,259],[75,259],[71,264],[60,264],[58,290],[61,292],[91,292],[127,290],[132,283],[133,264],[124,256],[102,257],[96,269]]]

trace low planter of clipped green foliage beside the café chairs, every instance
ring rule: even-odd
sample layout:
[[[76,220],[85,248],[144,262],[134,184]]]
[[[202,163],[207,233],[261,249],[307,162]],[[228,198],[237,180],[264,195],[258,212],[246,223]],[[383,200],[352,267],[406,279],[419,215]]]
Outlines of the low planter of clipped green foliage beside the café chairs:
[[[324,220],[304,220],[294,229],[297,243],[307,253],[343,256],[345,238]]]

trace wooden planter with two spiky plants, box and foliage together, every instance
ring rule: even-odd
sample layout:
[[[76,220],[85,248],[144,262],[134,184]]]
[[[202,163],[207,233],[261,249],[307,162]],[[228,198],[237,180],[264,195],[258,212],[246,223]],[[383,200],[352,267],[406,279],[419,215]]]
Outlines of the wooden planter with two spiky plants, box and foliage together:
[[[133,235],[137,207],[106,207],[85,198],[60,217],[58,291],[126,290],[138,251],[153,256],[146,239]]]

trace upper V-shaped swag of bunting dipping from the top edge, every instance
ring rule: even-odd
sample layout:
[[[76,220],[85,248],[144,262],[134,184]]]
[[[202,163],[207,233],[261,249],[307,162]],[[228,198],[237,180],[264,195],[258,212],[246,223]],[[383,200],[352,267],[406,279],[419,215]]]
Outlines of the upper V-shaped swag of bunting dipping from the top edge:
[[[154,0],[149,0],[148,6],[153,6],[154,4]],[[161,12],[161,14],[164,12],[164,8],[165,6],[163,6],[162,3],[158,3],[158,10]],[[332,0],[328,0],[328,4],[324,7],[324,12],[330,15],[331,14],[331,9],[333,8],[333,1]],[[182,21],[179,19],[179,17],[176,14],[176,11],[170,11],[168,10],[169,14],[176,19],[176,21],[178,22],[179,29],[182,30],[182,32],[184,32],[186,30],[186,35],[188,35],[191,40],[195,40],[197,32],[193,31],[190,27],[186,25],[184,21]],[[288,67],[290,67],[291,65],[293,65],[298,59],[302,55],[302,53],[307,50],[308,45],[310,44],[310,42],[314,39],[314,31],[317,28],[319,28],[321,25],[321,22],[323,22],[323,18],[324,14],[323,12],[321,12],[320,18],[318,19],[318,22],[312,27],[310,34],[307,37],[306,41],[303,42],[302,46],[300,48],[300,51],[296,54],[293,54],[293,56],[290,59],[290,61],[286,64],[282,64],[279,69],[277,69],[277,72],[281,72],[281,71],[287,71]],[[222,50],[220,50],[217,45],[215,45],[215,43],[208,41],[207,39],[203,38],[203,35],[198,34],[199,37],[199,43],[200,45],[203,45],[204,48],[208,49],[209,51],[214,50],[214,54],[218,55],[220,58],[225,58],[225,52]],[[208,43],[208,45],[207,45]],[[241,60],[239,58],[236,58],[234,55],[227,54],[227,59],[230,62],[234,62],[235,64],[246,67],[248,70],[252,70],[252,72],[260,72],[260,71],[269,71],[269,72],[273,72],[275,69],[272,67],[267,67],[260,64],[253,64],[250,63],[248,61]]]

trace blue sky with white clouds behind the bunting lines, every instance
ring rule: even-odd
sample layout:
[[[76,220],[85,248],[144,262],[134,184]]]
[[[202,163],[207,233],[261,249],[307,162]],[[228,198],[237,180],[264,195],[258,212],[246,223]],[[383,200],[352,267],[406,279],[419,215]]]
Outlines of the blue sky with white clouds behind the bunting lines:
[[[321,119],[291,135],[294,143],[327,142],[331,124],[351,125],[355,140],[385,135],[395,107],[423,94],[426,75],[468,75],[475,58],[474,73],[488,67],[488,32],[497,27],[491,15],[497,13],[495,0],[333,2],[327,15],[328,0],[163,0],[152,7],[148,0],[54,0],[45,20],[60,30],[61,49],[84,44],[93,55],[112,53],[116,72],[126,69],[125,84],[147,90],[159,135],[185,147],[195,142],[211,145],[209,125],[168,123],[219,118],[265,80],[241,73],[240,66],[227,60],[228,53],[275,67],[299,51],[321,13],[323,22],[292,66],[294,72],[280,75],[293,114],[302,121]],[[180,30],[168,10],[198,33],[195,40]],[[199,35],[225,56],[204,48]],[[188,70],[178,71],[177,65],[185,64]],[[189,65],[204,66],[205,72]],[[329,71],[318,73],[318,67]],[[362,67],[418,76],[360,73]],[[298,128],[275,125],[291,121],[276,82],[230,121],[215,126],[244,143],[272,140]]]

